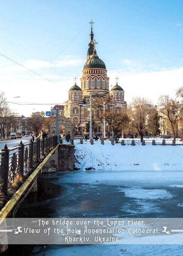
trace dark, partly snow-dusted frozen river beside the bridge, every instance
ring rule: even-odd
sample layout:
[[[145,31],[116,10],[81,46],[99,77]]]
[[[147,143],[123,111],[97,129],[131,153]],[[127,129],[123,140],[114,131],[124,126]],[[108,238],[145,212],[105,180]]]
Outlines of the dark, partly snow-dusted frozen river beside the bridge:
[[[181,171],[44,174],[16,217],[183,217]],[[34,246],[27,255],[183,255],[182,245]]]

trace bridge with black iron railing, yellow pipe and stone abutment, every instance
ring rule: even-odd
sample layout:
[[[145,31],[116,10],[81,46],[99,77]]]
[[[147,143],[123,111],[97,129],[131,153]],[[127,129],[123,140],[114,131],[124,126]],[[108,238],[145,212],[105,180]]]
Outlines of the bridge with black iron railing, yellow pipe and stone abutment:
[[[5,144],[0,151],[0,224],[22,195],[37,191],[41,173],[74,169],[74,145],[57,141],[52,135],[10,148]],[[6,249],[7,245],[0,245],[0,254]]]

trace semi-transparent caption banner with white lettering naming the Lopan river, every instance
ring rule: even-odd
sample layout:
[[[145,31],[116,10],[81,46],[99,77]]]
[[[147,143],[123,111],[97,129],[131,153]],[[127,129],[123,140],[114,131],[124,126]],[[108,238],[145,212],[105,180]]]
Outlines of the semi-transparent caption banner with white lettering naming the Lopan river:
[[[183,218],[6,218],[1,244],[183,244]]]

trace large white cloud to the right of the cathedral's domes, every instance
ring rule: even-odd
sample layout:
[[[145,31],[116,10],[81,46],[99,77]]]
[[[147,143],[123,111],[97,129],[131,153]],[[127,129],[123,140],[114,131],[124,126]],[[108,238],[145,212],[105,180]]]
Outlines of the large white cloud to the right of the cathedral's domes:
[[[162,69],[152,72],[125,72],[111,70],[108,72],[109,83],[115,84],[115,77],[119,77],[118,84],[124,89],[124,98],[128,102],[137,95],[152,99],[154,104],[162,94],[174,97],[178,87],[183,86],[183,67]]]

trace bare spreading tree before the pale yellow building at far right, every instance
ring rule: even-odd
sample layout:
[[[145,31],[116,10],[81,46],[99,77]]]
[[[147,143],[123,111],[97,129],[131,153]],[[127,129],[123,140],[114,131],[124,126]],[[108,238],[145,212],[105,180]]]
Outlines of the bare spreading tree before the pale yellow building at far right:
[[[175,99],[170,98],[168,95],[161,95],[159,104],[159,112],[162,113],[164,119],[169,121],[175,139],[178,122],[181,120],[181,104]]]

